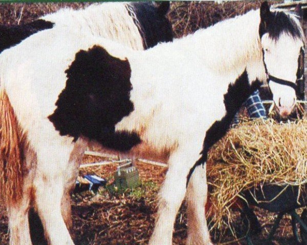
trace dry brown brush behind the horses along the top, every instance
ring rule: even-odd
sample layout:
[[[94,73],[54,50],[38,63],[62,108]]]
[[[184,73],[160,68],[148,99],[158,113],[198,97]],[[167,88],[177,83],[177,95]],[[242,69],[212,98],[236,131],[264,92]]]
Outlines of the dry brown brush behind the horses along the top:
[[[272,1],[271,3],[277,3]],[[280,2],[280,1],[279,1]],[[222,4],[209,2],[172,2],[168,14],[176,37],[193,33],[199,28],[243,14],[260,7],[261,1],[224,2]],[[90,3],[33,3],[33,4],[0,4],[1,24],[21,24],[36,19],[42,15],[53,13],[60,8],[79,9]]]

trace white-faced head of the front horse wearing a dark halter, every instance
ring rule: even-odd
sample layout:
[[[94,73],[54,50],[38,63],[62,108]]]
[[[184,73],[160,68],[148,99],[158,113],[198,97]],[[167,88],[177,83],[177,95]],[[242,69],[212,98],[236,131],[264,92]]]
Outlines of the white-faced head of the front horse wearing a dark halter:
[[[303,76],[305,37],[300,26],[300,6],[295,12],[260,7],[259,36],[267,82],[278,113],[287,117],[296,103],[296,81]]]

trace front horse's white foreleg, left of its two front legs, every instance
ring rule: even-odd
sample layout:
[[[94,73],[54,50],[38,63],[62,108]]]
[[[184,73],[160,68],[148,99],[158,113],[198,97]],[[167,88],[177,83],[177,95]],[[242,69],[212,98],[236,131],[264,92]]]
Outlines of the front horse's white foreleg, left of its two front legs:
[[[149,240],[150,245],[172,244],[174,222],[185,197],[187,175],[193,165],[191,159],[197,159],[199,152],[199,148],[178,148],[170,156],[169,168],[159,193],[156,226]]]

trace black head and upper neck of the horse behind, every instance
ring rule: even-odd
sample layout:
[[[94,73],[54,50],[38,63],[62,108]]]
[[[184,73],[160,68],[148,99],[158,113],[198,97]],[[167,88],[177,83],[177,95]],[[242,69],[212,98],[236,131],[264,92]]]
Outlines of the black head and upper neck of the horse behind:
[[[153,47],[159,42],[173,40],[172,27],[165,16],[169,9],[169,2],[162,3],[158,7],[146,2],[133,2],[130,5],[133,6],[134,13],[141,25],[139,31],[144,34],[143,38],[146,43],[144,48]]]

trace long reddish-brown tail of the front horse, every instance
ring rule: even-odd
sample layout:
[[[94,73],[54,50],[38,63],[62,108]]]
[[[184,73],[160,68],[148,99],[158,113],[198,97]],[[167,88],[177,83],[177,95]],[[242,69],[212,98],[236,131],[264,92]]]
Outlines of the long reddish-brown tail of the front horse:
[[[5,90],[0,91],[0,193],[7,205],[23,194],[23,132]]]

